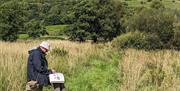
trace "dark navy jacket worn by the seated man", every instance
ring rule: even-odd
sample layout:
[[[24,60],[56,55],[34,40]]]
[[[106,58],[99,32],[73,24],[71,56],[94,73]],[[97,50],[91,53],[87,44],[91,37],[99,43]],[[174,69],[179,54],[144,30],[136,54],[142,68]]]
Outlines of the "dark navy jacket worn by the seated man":
[[[48,62],[45,55],[40,48],[29,51],[27,65],[28,81],[38,81],[39,85],[50,84],[48,76],[52,71],[48,69]]]

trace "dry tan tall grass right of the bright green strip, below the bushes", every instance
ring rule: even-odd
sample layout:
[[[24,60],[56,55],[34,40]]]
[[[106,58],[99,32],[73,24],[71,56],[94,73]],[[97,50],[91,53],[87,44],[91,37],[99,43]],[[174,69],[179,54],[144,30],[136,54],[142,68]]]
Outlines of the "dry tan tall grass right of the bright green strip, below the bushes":
[[[124,52],[121,91],[180,91],[180,52]]]

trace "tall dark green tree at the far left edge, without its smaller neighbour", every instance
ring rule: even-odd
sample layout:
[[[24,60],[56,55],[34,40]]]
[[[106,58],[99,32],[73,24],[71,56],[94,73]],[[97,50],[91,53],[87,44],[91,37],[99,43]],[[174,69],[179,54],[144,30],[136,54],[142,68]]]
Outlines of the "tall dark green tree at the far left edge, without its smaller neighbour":
[[[0,34],[3,40],[14,41],[19,31],[25,31],[23,26],[27,12],[23,6],[24,3],[15,0],[0,6]]]

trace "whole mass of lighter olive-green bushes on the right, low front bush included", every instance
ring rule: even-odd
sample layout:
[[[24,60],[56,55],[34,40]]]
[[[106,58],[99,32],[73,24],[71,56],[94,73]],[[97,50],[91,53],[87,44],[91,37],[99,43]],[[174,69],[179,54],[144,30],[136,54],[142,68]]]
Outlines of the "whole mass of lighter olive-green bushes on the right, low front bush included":
[[[126,31],[114,39],[119,48],[180,49],[179,13],[167,9],[161,2],[153,1],[126,20]],[[139,41],[140,40],[140,41]]]

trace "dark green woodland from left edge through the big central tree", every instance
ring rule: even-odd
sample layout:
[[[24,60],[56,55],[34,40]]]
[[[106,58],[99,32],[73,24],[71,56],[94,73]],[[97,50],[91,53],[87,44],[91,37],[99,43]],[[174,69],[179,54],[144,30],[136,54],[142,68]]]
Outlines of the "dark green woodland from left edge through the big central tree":
[[[37,38],[47,34],[45,25],[70,25],[72,40],[112,40],[123,32],[123,6],[117,0],[15,0],[1,1],[1,38],[18,34]]]

